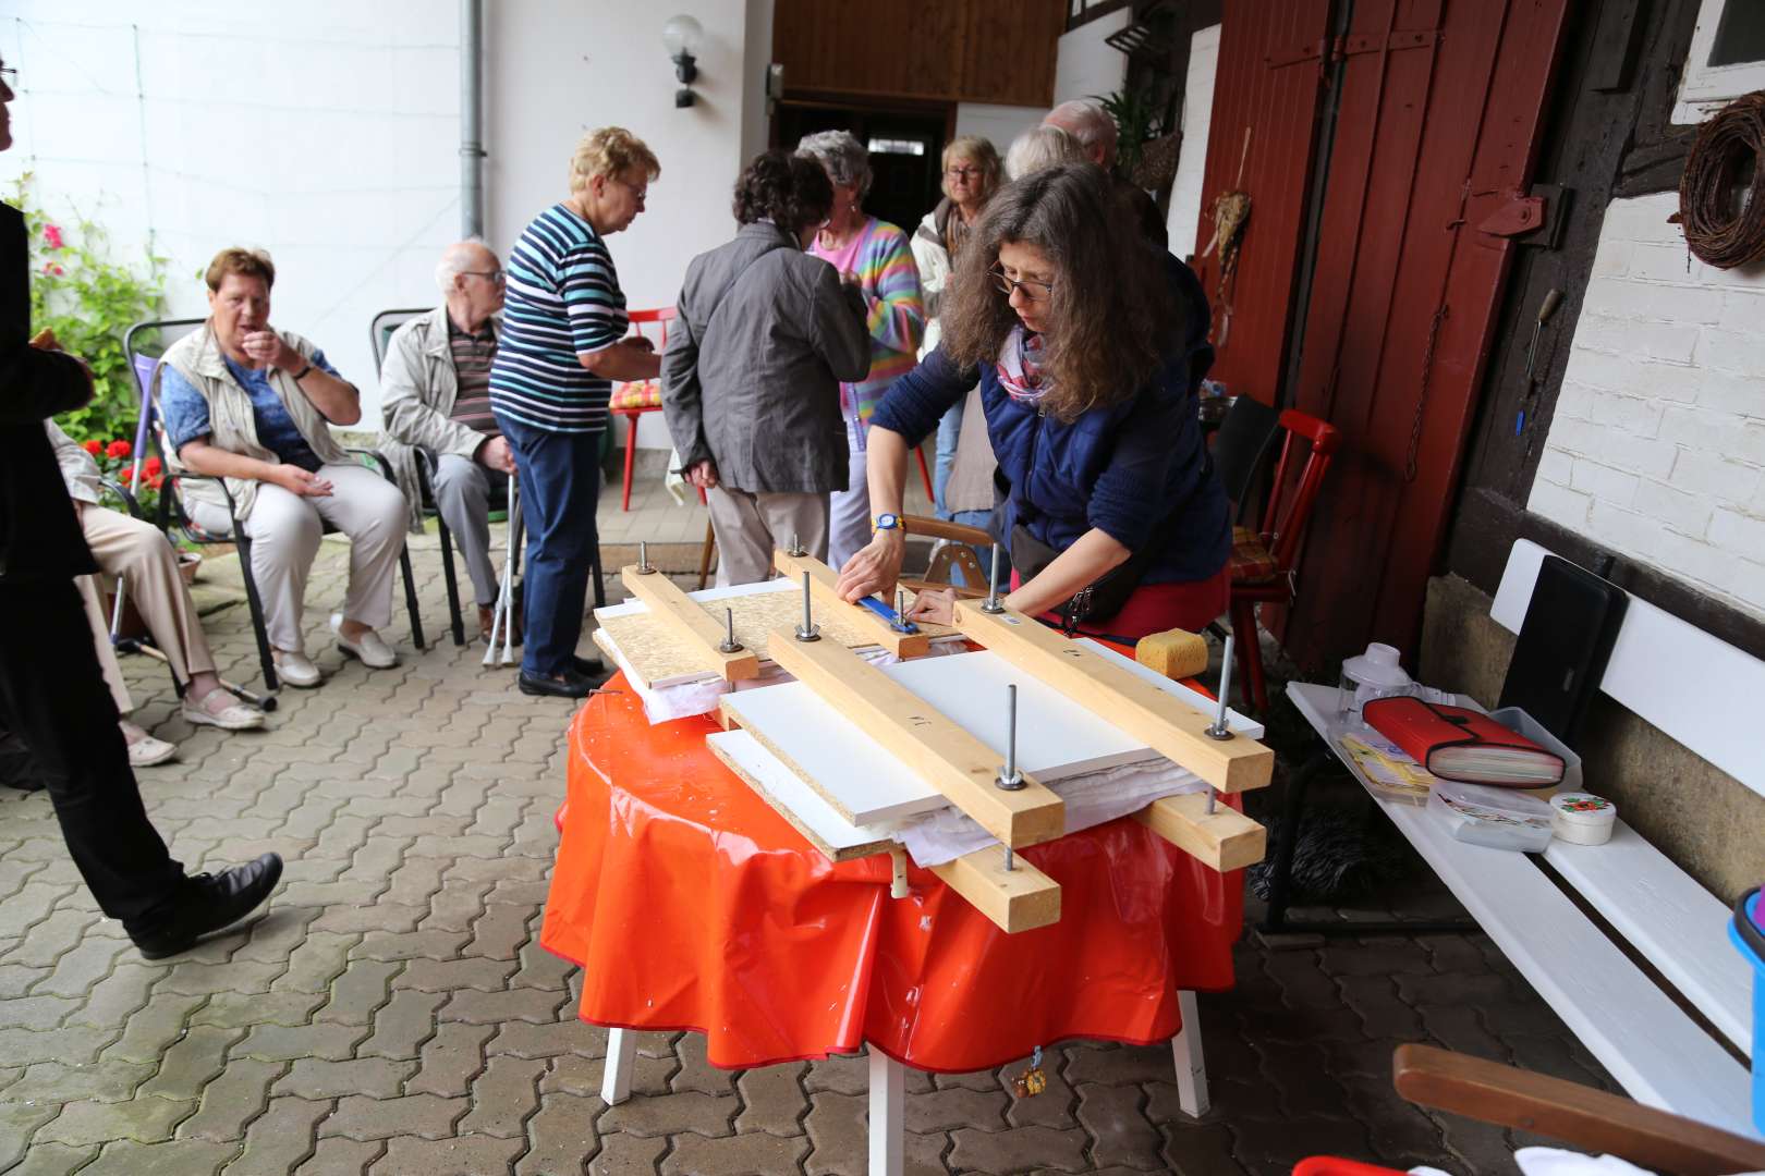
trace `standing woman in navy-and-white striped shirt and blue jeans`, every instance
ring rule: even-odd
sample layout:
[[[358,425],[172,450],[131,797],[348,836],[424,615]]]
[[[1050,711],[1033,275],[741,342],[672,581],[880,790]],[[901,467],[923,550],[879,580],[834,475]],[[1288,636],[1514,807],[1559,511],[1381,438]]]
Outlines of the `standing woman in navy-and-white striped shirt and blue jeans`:
[[[552,205],[508,256],[503,340],[491,411],[515,453],[528,529],[521,691],[586,696],[604,677],[579,658],[600,497],[600,434],[612,381],[655,379],[660,360],[630,321],[607,234],[644,210],[655,153],[620,127],[591,130],[570,159],[570,197]]]

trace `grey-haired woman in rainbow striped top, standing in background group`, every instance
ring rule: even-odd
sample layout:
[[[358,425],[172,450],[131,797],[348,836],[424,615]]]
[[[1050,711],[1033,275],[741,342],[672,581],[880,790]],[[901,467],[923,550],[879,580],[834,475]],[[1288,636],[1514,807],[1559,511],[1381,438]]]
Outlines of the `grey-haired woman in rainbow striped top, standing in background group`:
[[[851,130],[822,130],[805,136],[796,153],[821,164],[833,183],[833,212],[808,252],[833,264],[840,280],[858,287],[870,328],[870,374],[840,384],[851,480],[845,490],[833,492],[830,502],[828,562],[838,568],[870,543],[865,432],[882,393],[916,363],[925,333],[925,303],[920,301],[920,268],[907,234],[860,206],[870,190],[870,153],[863,143]]]

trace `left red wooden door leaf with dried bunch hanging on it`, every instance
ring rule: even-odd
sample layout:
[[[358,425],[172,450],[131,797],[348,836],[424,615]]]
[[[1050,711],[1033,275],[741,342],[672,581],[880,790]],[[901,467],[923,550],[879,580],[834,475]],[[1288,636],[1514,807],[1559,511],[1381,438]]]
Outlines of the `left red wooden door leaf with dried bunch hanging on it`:
[[[1214,379],[1264,404],[1274,404],[1287,354],[1329,9],[1331,0],[1225,0],[1220,28],[1195,272],[1214,303]],[[1251,212],[1221,296],[1220,250],[1200,250],[1214,233],[1209,206],[1234,189],[1250,192]]]

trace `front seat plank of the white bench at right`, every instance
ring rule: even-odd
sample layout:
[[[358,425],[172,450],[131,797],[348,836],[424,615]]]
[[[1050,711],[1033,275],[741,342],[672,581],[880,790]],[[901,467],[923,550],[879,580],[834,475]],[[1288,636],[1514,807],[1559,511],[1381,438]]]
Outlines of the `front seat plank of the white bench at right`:
[[[1287,696],[1320,733],[1329,730],[1334,686],[1290,682]],[[1633,1098],[1758,1137],[1747,1070],[1626,959],[1527,855],[1454,841],[1426,808],[1378,804]]]

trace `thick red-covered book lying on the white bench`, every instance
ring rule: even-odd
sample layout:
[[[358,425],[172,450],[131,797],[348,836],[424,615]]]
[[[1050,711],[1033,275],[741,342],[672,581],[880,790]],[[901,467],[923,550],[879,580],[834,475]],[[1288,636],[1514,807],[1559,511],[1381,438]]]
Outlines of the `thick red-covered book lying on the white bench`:
[[[1548,788],[1562,781],[1560,755],[1481,711],[1421,698],[1375,698],[1361,718],[1442,779],[1506,788]]]

